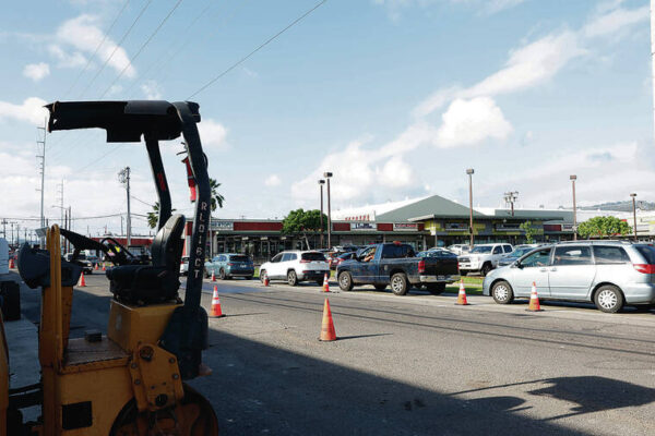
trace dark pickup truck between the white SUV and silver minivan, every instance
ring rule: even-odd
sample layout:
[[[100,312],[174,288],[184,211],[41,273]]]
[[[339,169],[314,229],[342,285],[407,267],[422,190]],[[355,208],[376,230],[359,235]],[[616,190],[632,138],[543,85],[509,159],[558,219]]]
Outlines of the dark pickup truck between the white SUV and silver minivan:
[[[460,279],[460,270],[454,254],[416,257],[410,245],[395,242],[371,245],[354,259],[342,262],[336,277],[343,291],[352,290],[355,284],[373,284],[381,291],[391,284],[394,294],[404,295],[413,286],[425,286],[438,295],[445,284]]]

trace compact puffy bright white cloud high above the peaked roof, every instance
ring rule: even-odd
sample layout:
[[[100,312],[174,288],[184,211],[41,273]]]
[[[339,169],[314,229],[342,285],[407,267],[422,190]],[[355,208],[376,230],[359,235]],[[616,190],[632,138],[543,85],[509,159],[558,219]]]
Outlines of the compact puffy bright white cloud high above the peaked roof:
[[[441,116],[443,124],[437,132],[442,147],[477,144],[487,138],[504,140],[512,126],[489,97],[456,99]]]

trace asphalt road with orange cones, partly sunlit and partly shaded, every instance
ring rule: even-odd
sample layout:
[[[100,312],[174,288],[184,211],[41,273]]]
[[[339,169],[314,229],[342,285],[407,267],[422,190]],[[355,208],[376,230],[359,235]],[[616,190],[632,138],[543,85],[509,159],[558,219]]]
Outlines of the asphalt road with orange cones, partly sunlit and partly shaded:
[[[87,283],[73,335],[105,329],[108,283]],[[216,284],[214,374],[191,384],[223,435],[655,434],[655,312],[360,290],[329,294],[338,340],[320,342],[319,287]],[[32,319],[38,295],[23,293]]]

